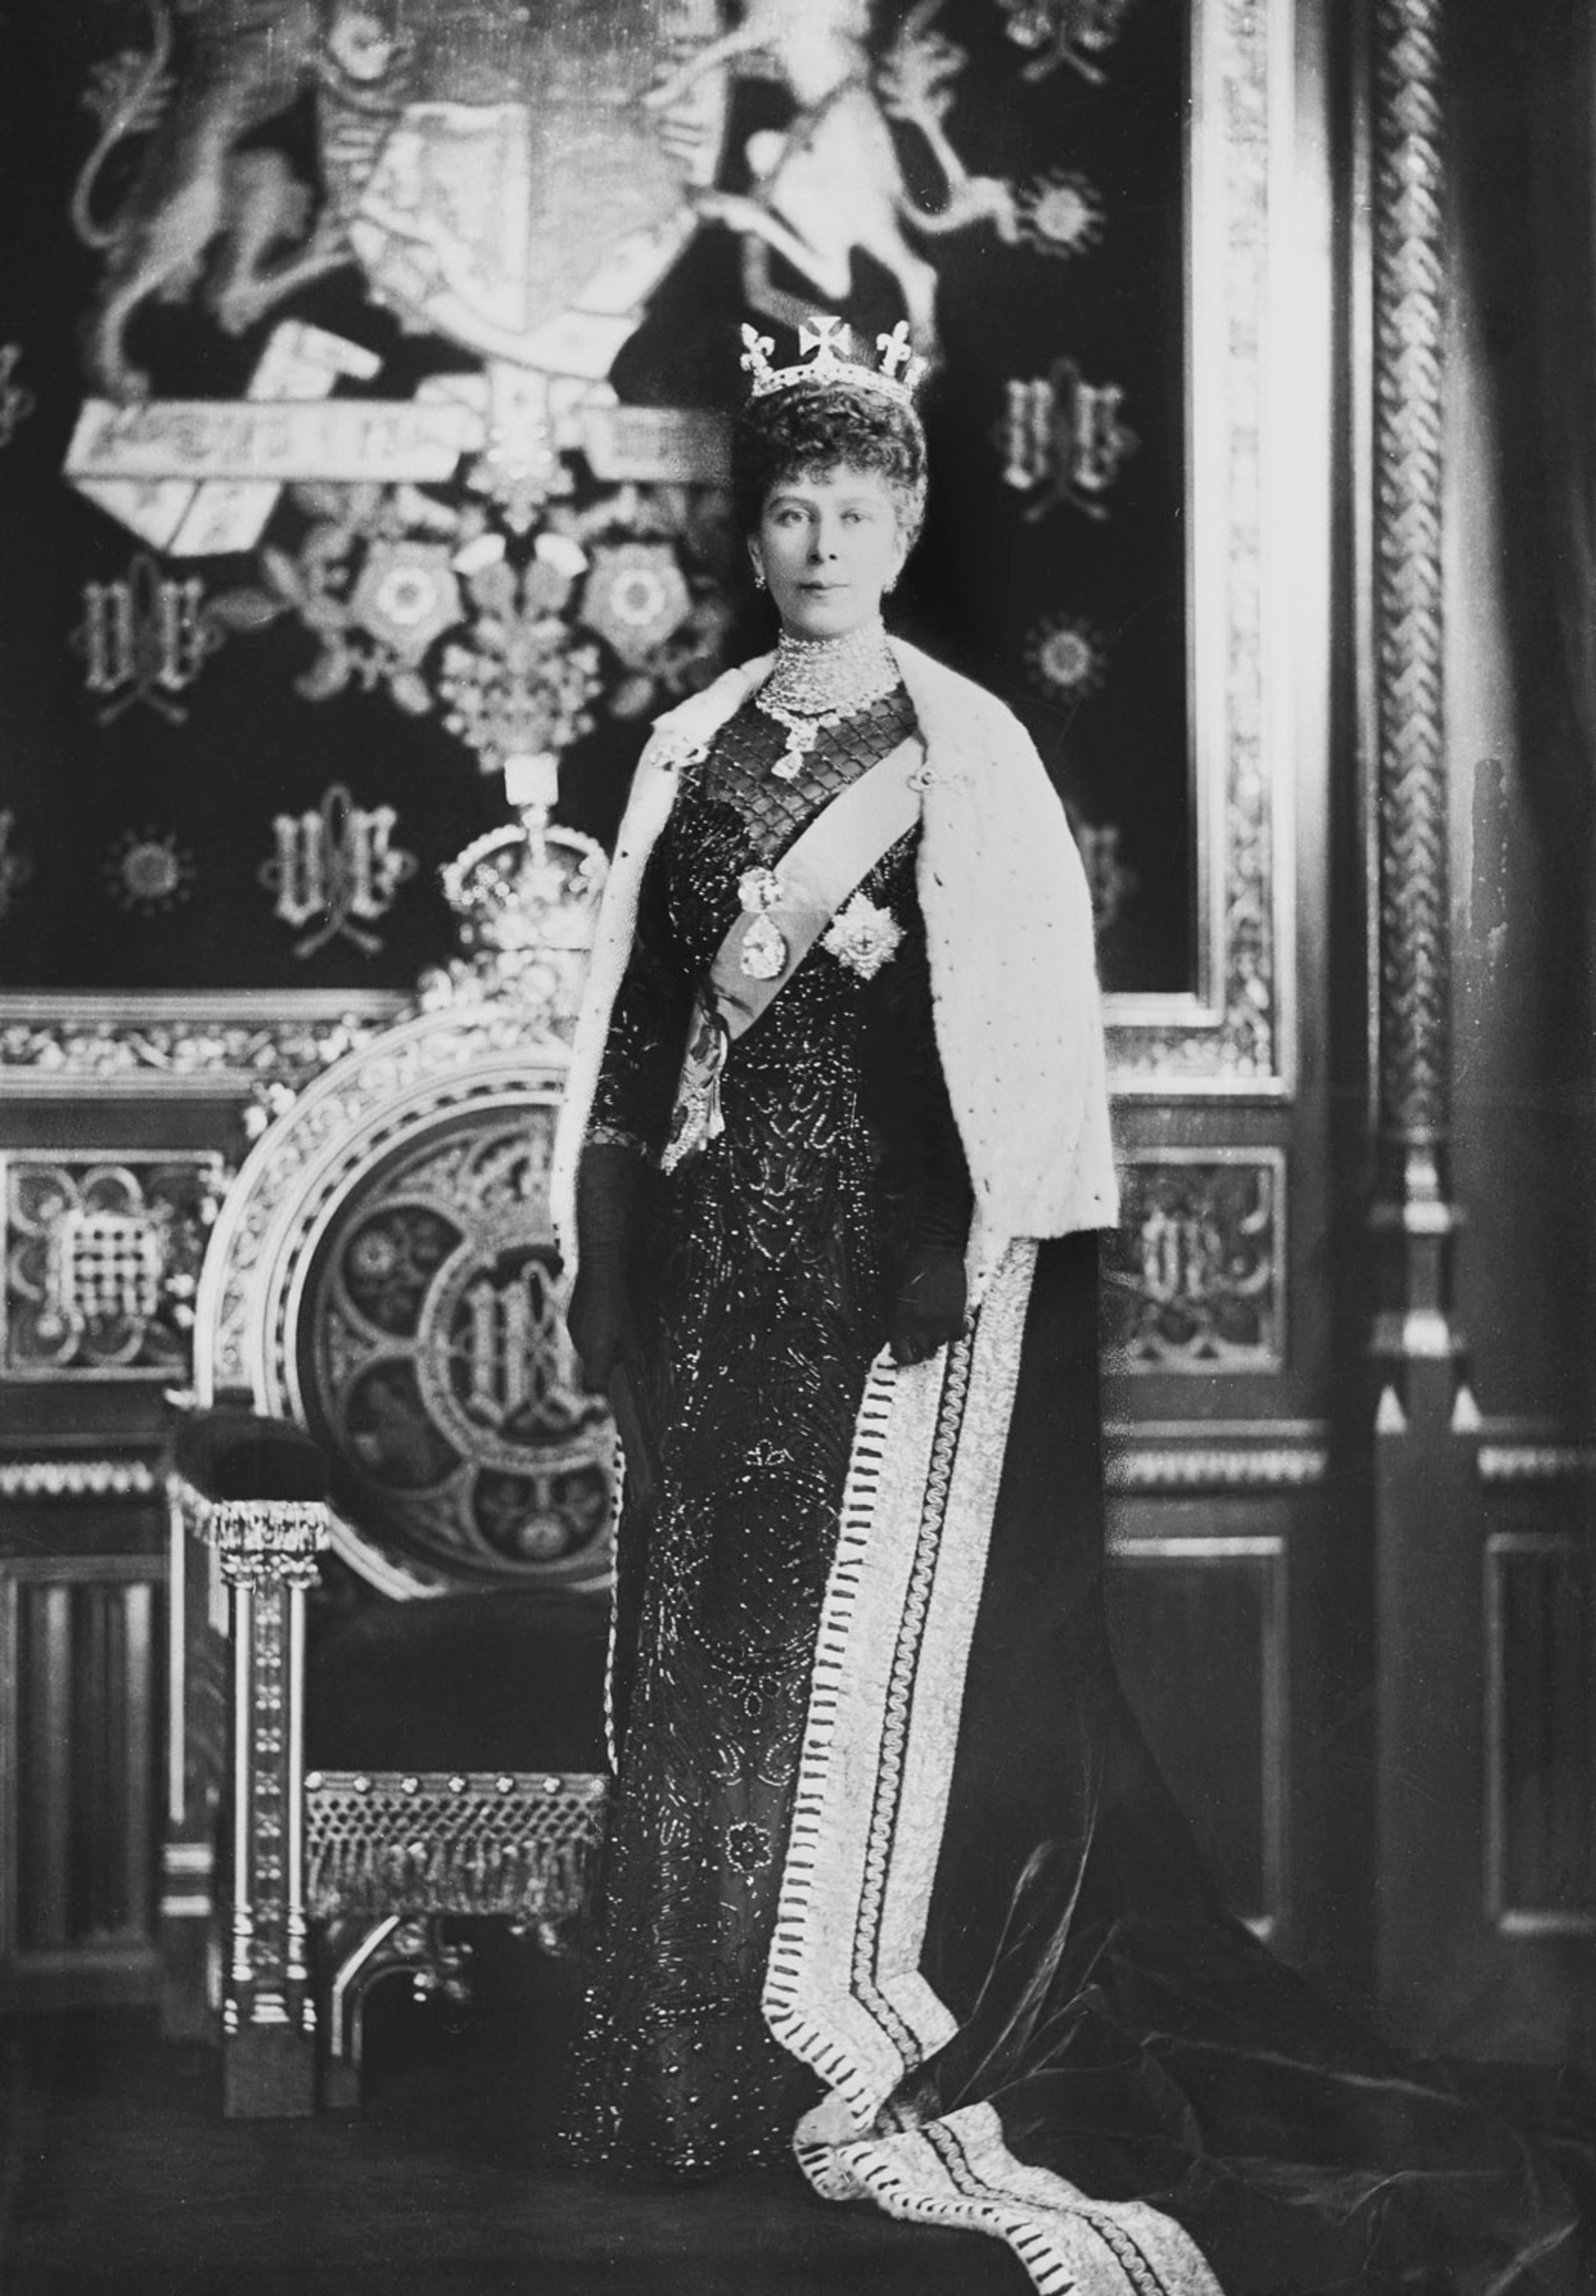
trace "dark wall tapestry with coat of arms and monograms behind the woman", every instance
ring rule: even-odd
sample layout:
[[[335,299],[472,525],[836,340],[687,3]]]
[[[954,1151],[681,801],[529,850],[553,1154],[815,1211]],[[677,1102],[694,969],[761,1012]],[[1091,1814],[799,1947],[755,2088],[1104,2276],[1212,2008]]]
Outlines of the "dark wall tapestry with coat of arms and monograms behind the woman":
[[[1183,0],[14,0],[0,987],[409,987],[508,788],[604,836],[820,312],[932,360],[900,627],[1190,987],[1185,122]]]

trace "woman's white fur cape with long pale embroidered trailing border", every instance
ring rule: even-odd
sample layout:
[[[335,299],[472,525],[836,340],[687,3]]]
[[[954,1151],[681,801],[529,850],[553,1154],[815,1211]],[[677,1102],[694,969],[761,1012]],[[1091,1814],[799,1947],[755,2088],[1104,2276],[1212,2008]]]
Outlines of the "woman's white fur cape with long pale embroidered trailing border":
[[[795,2133],[820,2193],[870,2195],[898,2216],[997,2234],[1043,2291],[1219,2296],[1173,2220],[1144,2202],[1091,2202],[1063,2177],[1024,2165],[990,2105],[914,2124],[896,2099],[955,2032],[919,1961],[1036,1238],[1111,1221],[1116,1189],[1091,902],[1063,810],[992,696],[912,647],[893,652],[925,739],[914,776],[923,808],[916,889],[937,1052],[976,1192],[969,1277],[978,1311],[955,1348],[902,1371],[884,1352],[866,1384],[815,1646],[765,2018],[827,2085]],[[733,670],[671,712],[638,767],[556,1150],[567,1251],[574,1164],[648,854],[671,815],[680,765],[703,753],[769,666],[767,657]]]

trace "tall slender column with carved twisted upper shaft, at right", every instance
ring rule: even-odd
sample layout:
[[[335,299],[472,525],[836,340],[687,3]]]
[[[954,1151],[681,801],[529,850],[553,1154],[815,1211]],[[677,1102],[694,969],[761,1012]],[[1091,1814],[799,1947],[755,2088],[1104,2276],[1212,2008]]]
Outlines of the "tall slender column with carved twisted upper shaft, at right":
[[[1444,0],[1373,0],[1378,1267],[1373,1961],[1428,2043],[1483,1924],[1479,1414],[1454,1322],[1444,712]]]

